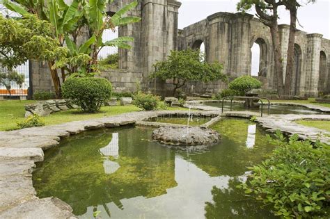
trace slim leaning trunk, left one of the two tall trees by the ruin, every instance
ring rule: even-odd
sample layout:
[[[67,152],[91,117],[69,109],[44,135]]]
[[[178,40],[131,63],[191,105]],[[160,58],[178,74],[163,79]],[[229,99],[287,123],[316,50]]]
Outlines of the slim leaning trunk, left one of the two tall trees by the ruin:
[[[281,97],[283,96],[283,63],[282,63],[282,49],[280,39],[278,37],[278,24],[277,21],[270,27],[272,33],[272,43],[274,49],[274,61],[275,61],[275,74],[277,79],[277,93]]]

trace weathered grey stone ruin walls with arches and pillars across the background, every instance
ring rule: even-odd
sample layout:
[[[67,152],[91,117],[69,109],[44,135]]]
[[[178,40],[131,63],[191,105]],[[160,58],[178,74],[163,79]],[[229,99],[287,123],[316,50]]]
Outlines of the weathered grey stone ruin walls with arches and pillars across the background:
[[[115,12],[132,0],[117,0],[108,8]],[[205,43],[207,61],[219,61],[223,72],[230,79],[251,74],[251,47],[260,44],[260,69],[258,79],[265,89],[276,89],[274,76],[274,53],[269,28],[253,15],[242,13],[215,13],[183,30],[178,29],[178,9],[181,3],[173,0],[139,0],[139,6],[130,15],[141,17],[141,22],[120,27],[118,35],[132,35],[132,49],[119,49],[120,70],[102,72],[113,83],[116,91],[134,91],[136,82],[145,90],[154,91],[155,81],[148,75],[157,60],[165,60],[173,49],[198,48]],[[280,25],[283,64],[285,72],[289,26]],[[330,92],[330,40],[317,33],[297,32],[297,68],[292,79],[292,95],[317,96],[319,91]],[[324,58],[320,52],[323,51]],[[320,66],[321,74],[320,74]],[[33,90],[51,90],[49,71],[44,65],[34,64],[32,69]],[[321,80],[319,80],[319,75]],[[320,88],[318,88],[320,87]],[[322,87],[322,88],[321,88]],[[161,95],[171,95],[171,80],[156,81],[156,90]],[[189,83],[183,88],[187,93],[218,92],[226,83]]]

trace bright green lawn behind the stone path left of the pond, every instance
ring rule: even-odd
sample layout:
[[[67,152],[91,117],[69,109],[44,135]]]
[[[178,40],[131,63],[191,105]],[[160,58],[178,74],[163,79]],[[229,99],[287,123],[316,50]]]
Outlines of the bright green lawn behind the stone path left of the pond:
[[[22,122],[24,118],[24,105],[32,104],[35,101],[31,100],[3,100],[0,101],[0,131],[8,131],[17,129],[16,122]],[[169,107],[168,110],[187,110],[187,108],[173,108]],[[128,106],[104,106],[98,113],[81,113],[77,109],[72,109],[69,111],[61,111],[58,113],[52,113],[47,117],[42,117],[46,125],[49,124],[61,124],[64,122],[78,121],[78,120],[88,120],[98,117],[106,117],[110,115],[118,115],[121,113],[129,113],[134,111],[141,111],[134,105]]]

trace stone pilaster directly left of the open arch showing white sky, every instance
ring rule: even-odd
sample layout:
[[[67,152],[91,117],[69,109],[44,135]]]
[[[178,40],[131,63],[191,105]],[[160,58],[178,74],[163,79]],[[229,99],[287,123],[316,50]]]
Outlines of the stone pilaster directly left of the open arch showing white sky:
[[[249,74],[250,66],[250,39],[253,15],[236,13],[233,15],[230,33],[229,73],[230,76]]]

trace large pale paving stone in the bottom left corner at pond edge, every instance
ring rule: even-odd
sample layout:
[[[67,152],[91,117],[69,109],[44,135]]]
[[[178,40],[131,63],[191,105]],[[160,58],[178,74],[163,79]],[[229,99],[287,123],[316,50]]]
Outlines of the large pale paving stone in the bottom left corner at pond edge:
[[[29,200],[18,206],[0,213],[0,218],[24,219],[57,219],[77,218],[72,214],[72,208],[56,197]]]

